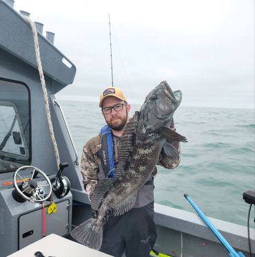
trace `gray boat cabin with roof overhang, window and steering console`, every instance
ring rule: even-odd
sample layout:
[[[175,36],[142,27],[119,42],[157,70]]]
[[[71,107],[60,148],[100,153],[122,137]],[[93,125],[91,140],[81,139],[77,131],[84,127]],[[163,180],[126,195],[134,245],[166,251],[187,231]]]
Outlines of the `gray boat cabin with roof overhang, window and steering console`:
[[[72,84],[76,67],[38,32],[58,166],[32,29],[2,0],[0,17],[0,256],[5,257],[44,236],[70,234],[74,196],[81,202],[88,198],[72,138],[54,97]]]

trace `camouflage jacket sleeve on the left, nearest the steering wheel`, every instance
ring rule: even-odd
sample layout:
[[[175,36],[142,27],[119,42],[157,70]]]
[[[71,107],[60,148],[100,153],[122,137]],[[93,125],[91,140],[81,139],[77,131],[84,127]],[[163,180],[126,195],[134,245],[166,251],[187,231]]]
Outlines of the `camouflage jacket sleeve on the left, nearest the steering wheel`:
[[[99,164],[96,163],[94,155],[90,153],[85,146],[81,155],[81,174],[83,176],[83,184],[88,198],[94,193],[99,173]]]

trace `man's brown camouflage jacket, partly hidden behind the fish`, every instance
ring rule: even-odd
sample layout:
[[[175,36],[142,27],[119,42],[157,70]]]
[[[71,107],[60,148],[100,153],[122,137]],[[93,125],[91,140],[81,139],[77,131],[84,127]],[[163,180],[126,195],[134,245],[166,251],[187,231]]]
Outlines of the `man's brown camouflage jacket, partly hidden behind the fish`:
[[[171,129],[175,130],[174,127],[172,127]],[[118,146],[119,138],[114,136],[113,139],[114,139],[114,160],[116,163],[118,162],[117,146]],[[174,142],[173,145],[180,153],[181,147],[179,142]],[[102,179],[102,178],[99,178],[99,171],[101,170],[101,160],[97,155],[100,148],[101,148],[101,135],[96,135],[96,137],[92,137],[92,139],[90,139],[85,144],[85,146],[83,146],[83,152],[81,155],[81,174],[83,175],[84,188],[85,188],[85,191],[87,191],[89,198],[94,192],[97,182]],[[180,158],[172,159],[168,155],[166,155],[162,149],[161,154],[159,155],[159,160],[157,164],[165,167],[166,169],[174,169],[176,166],[179,165],[179,163],[180,163]],[[156,172],[157,171],[155,168],[154,173],[152,175],[155,176]]]

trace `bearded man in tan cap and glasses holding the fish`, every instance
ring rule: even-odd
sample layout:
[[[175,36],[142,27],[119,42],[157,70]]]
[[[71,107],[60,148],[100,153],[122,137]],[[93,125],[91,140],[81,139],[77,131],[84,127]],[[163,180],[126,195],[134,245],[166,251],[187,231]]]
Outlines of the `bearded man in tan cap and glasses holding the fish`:
[[[99,180],[112,178],[112,167],[118,162],[118,141],[125,124],[128,122],[130,104],[120,88],[106,88],[100,95],[99,107],[107,126],[101,133],[85,144],[81,157],[83,183],[92,197]],[[174,122],[171,124],[174,130]],[[179,143],[174,145],[180,152]],[[179,165],[179,158],[172,160],[163,151],[158,164],[167,169]],[[137,194],[134,207],[122,216],[112,216],[103,227],[103,243],[100,251],[112,256],[121,257],[125,251],[127,257],[150,256],[150,250],[156,241],[154,223],[154,175],[145,182]]]

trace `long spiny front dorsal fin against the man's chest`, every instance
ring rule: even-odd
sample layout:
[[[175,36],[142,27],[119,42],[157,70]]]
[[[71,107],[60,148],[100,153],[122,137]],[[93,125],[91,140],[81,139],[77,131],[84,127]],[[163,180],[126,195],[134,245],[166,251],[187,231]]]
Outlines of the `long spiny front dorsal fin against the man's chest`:
[[[139,112],[136,111],[130,121],[124,128],[123,134],[119,138],[118,146],[118,163],[116,164],[115,173],[119,178],[129,164],[130,154],[132,153],[132,142],[136,136],[135,129],[139,118]]]

